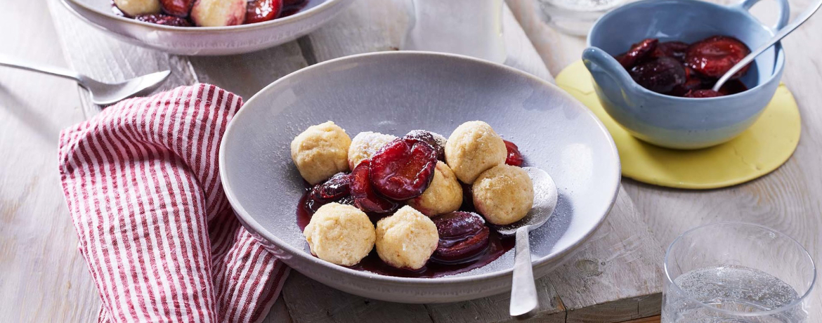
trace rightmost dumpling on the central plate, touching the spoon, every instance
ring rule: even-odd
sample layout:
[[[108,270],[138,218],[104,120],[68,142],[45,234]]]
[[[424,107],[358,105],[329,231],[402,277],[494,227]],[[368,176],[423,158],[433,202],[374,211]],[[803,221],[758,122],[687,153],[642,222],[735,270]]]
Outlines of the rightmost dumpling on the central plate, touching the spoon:
[[[533,206],[533,182],[523,168],[497,165],[473,182],[473,205],[492,224],[515,223]]]

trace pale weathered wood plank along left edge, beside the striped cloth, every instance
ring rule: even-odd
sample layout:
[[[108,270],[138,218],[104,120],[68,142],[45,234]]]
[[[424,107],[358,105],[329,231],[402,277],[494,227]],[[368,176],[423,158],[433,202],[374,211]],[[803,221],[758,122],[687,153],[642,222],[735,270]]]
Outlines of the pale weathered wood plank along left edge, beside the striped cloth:
[[[3,2],[0,54],[64,67],[43,0]],[[79,122],[74,82],[0,68],[0,321],[94,321],[95,284],[62,201],[56,143]]]

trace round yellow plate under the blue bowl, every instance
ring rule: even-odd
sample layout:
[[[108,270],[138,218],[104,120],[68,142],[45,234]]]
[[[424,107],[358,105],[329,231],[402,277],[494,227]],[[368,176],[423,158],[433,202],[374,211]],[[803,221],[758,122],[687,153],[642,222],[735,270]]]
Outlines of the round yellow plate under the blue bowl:
[[[671,150],[630,136],[599,104],[591,74],[582,61],[556,76],[556,85],[587,105],[611,132],[622,175],[663,187],[709,189],[729,187],[770,173],[797,149],[801,121],[797,101],[779,85],[753,126],[722,145],[701,150]]]

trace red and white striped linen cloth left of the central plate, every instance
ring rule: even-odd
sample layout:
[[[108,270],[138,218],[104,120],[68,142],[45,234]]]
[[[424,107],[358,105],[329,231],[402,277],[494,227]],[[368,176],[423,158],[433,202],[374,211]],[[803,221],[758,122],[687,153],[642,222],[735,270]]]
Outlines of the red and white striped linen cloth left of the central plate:
[[[214,85],[183,86],[62,131],[62,188],[99,322],[265,318],[288,267],[242,228],[217,173],[241,106]]]

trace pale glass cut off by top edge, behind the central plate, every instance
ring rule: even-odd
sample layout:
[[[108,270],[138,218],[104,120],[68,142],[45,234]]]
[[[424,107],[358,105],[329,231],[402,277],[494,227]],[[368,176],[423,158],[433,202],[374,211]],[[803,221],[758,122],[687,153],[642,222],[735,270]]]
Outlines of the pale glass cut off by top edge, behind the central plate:
[[[412,0],[413,21],[402,45],[505,62],[503,0]]]

